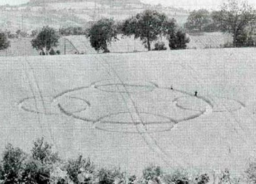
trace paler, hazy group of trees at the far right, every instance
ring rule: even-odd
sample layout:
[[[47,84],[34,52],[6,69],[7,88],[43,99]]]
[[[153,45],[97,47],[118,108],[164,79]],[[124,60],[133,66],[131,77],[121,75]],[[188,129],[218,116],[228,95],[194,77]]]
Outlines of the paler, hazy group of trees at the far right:
[[[255,46],[255,26],[256,10],[239,0],[228,0],[219,11],[192,11],[184,25],[189,31],[228,32],[233,36],[233,47]]]

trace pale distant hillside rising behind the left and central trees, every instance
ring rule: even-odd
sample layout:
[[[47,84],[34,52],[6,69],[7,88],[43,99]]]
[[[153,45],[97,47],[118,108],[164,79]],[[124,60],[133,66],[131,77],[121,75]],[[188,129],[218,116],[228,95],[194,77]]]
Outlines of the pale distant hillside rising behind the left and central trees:
[[[160,9],[158,9],[160,8]],[[143,4],[139,0],[31,0],[27,4],[0,6],[0,27],[4,30],[31,31],[50,27],[86,27],[101,18],[125,20],[145,9],[156,9],[182,25],[188,13],[175,8]]]

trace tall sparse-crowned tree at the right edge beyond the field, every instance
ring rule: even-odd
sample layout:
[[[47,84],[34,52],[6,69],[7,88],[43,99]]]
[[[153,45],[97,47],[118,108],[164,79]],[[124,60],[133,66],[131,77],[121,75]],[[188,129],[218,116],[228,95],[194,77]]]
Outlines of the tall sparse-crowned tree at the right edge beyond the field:
[[[221,31],[232,34],[233,46],[242,47],[247,44],[251,33],[247,29],[256,20],[256,13],[246,2],[229,0],[223,4],[219,13],[215,14],[214,19],[219,22]]]

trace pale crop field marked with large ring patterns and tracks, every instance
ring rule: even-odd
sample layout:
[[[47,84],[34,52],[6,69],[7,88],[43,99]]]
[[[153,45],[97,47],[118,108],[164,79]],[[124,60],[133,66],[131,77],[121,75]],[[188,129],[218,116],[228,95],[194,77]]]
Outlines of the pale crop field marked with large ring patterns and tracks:
[[[256,148],[255,49],[0,58],[0,152],[241,173]],[[197,91],[197,97],[194,96]]]

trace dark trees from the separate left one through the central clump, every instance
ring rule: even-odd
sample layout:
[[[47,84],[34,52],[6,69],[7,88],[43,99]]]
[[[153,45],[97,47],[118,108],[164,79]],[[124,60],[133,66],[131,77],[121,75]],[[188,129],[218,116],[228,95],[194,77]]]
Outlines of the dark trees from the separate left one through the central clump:
[[[74,29],[71,27],[70,29],[60,29],[59,33],[60,31],[62,35],[66,35],[66,31],[74,31]],[[76,29],[76,31],[80,33],[79,31],[82,29]],[[31,41],[32,46],[40,51],[41,55],[54,54],[53,47],[57,47],[59,33],[51,27],[43,27]],[[162,36],[167,37],[171,49],[185,49],[189,42],[188,36],[184,31],[178,29],[174,19],[168,19],[165,14],[153,10],[138,13],[122,23],[116,23],[113,19],[101,19],[85,32],[91,46],[96,51],[102,50],[104,53],[110,52],[108,45],[112,41],[118,40],[118,34],[134,35],[134,39],[140,38],[149,51],[151,43]],[[163,44],[157,43],[155,50],[165,50],[166,47]]]

